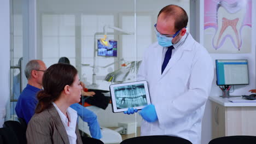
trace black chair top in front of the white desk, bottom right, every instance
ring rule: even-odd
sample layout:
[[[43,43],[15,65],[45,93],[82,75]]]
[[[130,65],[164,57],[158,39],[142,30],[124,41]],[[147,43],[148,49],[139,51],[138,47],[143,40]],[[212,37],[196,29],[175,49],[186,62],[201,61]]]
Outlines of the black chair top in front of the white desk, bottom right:
[[[218,137],[216,139],[211,140],[208,144],[255,144],[256,136],[247,136],[247,135],[236,135],[236,136],[224,136]]]

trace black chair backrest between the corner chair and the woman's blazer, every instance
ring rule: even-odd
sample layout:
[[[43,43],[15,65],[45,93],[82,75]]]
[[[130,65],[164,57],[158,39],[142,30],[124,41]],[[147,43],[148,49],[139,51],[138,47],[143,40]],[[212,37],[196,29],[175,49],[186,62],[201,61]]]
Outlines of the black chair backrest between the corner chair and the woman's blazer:
[[[17,121],[6,121],[3,124],[4,128],[9,128],[10,130],[13,130],[16,137],[18,138],[18,141],[20,144],[26,144],[26,129],[21,126],[21,124]]]

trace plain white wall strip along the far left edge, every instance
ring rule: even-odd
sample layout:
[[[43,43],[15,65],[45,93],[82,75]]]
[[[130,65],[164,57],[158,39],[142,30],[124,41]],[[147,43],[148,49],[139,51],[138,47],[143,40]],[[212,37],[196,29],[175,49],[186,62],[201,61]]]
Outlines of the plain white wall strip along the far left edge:
[[[9,69],[10,69],[10,9],[9,0],[2,0],[0,4],[0,128],[5,117],[5,105],[9,99]]]

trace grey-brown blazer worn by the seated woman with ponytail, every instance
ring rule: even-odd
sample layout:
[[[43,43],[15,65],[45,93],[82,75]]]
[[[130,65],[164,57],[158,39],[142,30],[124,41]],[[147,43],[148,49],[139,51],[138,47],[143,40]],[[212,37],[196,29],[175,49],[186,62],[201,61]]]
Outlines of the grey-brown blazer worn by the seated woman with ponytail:
[[[82,143],[78,127],[75,129],[77,143]],[[26,131],[27,143],[66,143],[69,144],[66,129],[54,105],[36,113],[30,119]]]

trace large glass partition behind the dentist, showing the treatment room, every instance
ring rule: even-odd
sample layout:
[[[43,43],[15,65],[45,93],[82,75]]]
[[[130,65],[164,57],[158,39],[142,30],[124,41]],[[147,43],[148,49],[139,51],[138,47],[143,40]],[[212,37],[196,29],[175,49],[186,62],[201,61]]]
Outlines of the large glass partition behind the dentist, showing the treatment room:
[[[157,15],[168,4],[180,5],[189,15],[189,0],[37,1],[37,48],[46,67],[67,57],[79,70],[85,91],[108,97],[97,101],[95,95],[94,100],[83,97],[81,101],[97,115],[104,143],[120,143],[140,135],[141,116],[112,112],[109,85],[136,81],[144,51],[156,41],[153,26]],[[112,47],[102,46],[101,39]],[[124,125],[129,125],[129,130],[122,129]],[[82,119],[79,129],[90,135]]]

